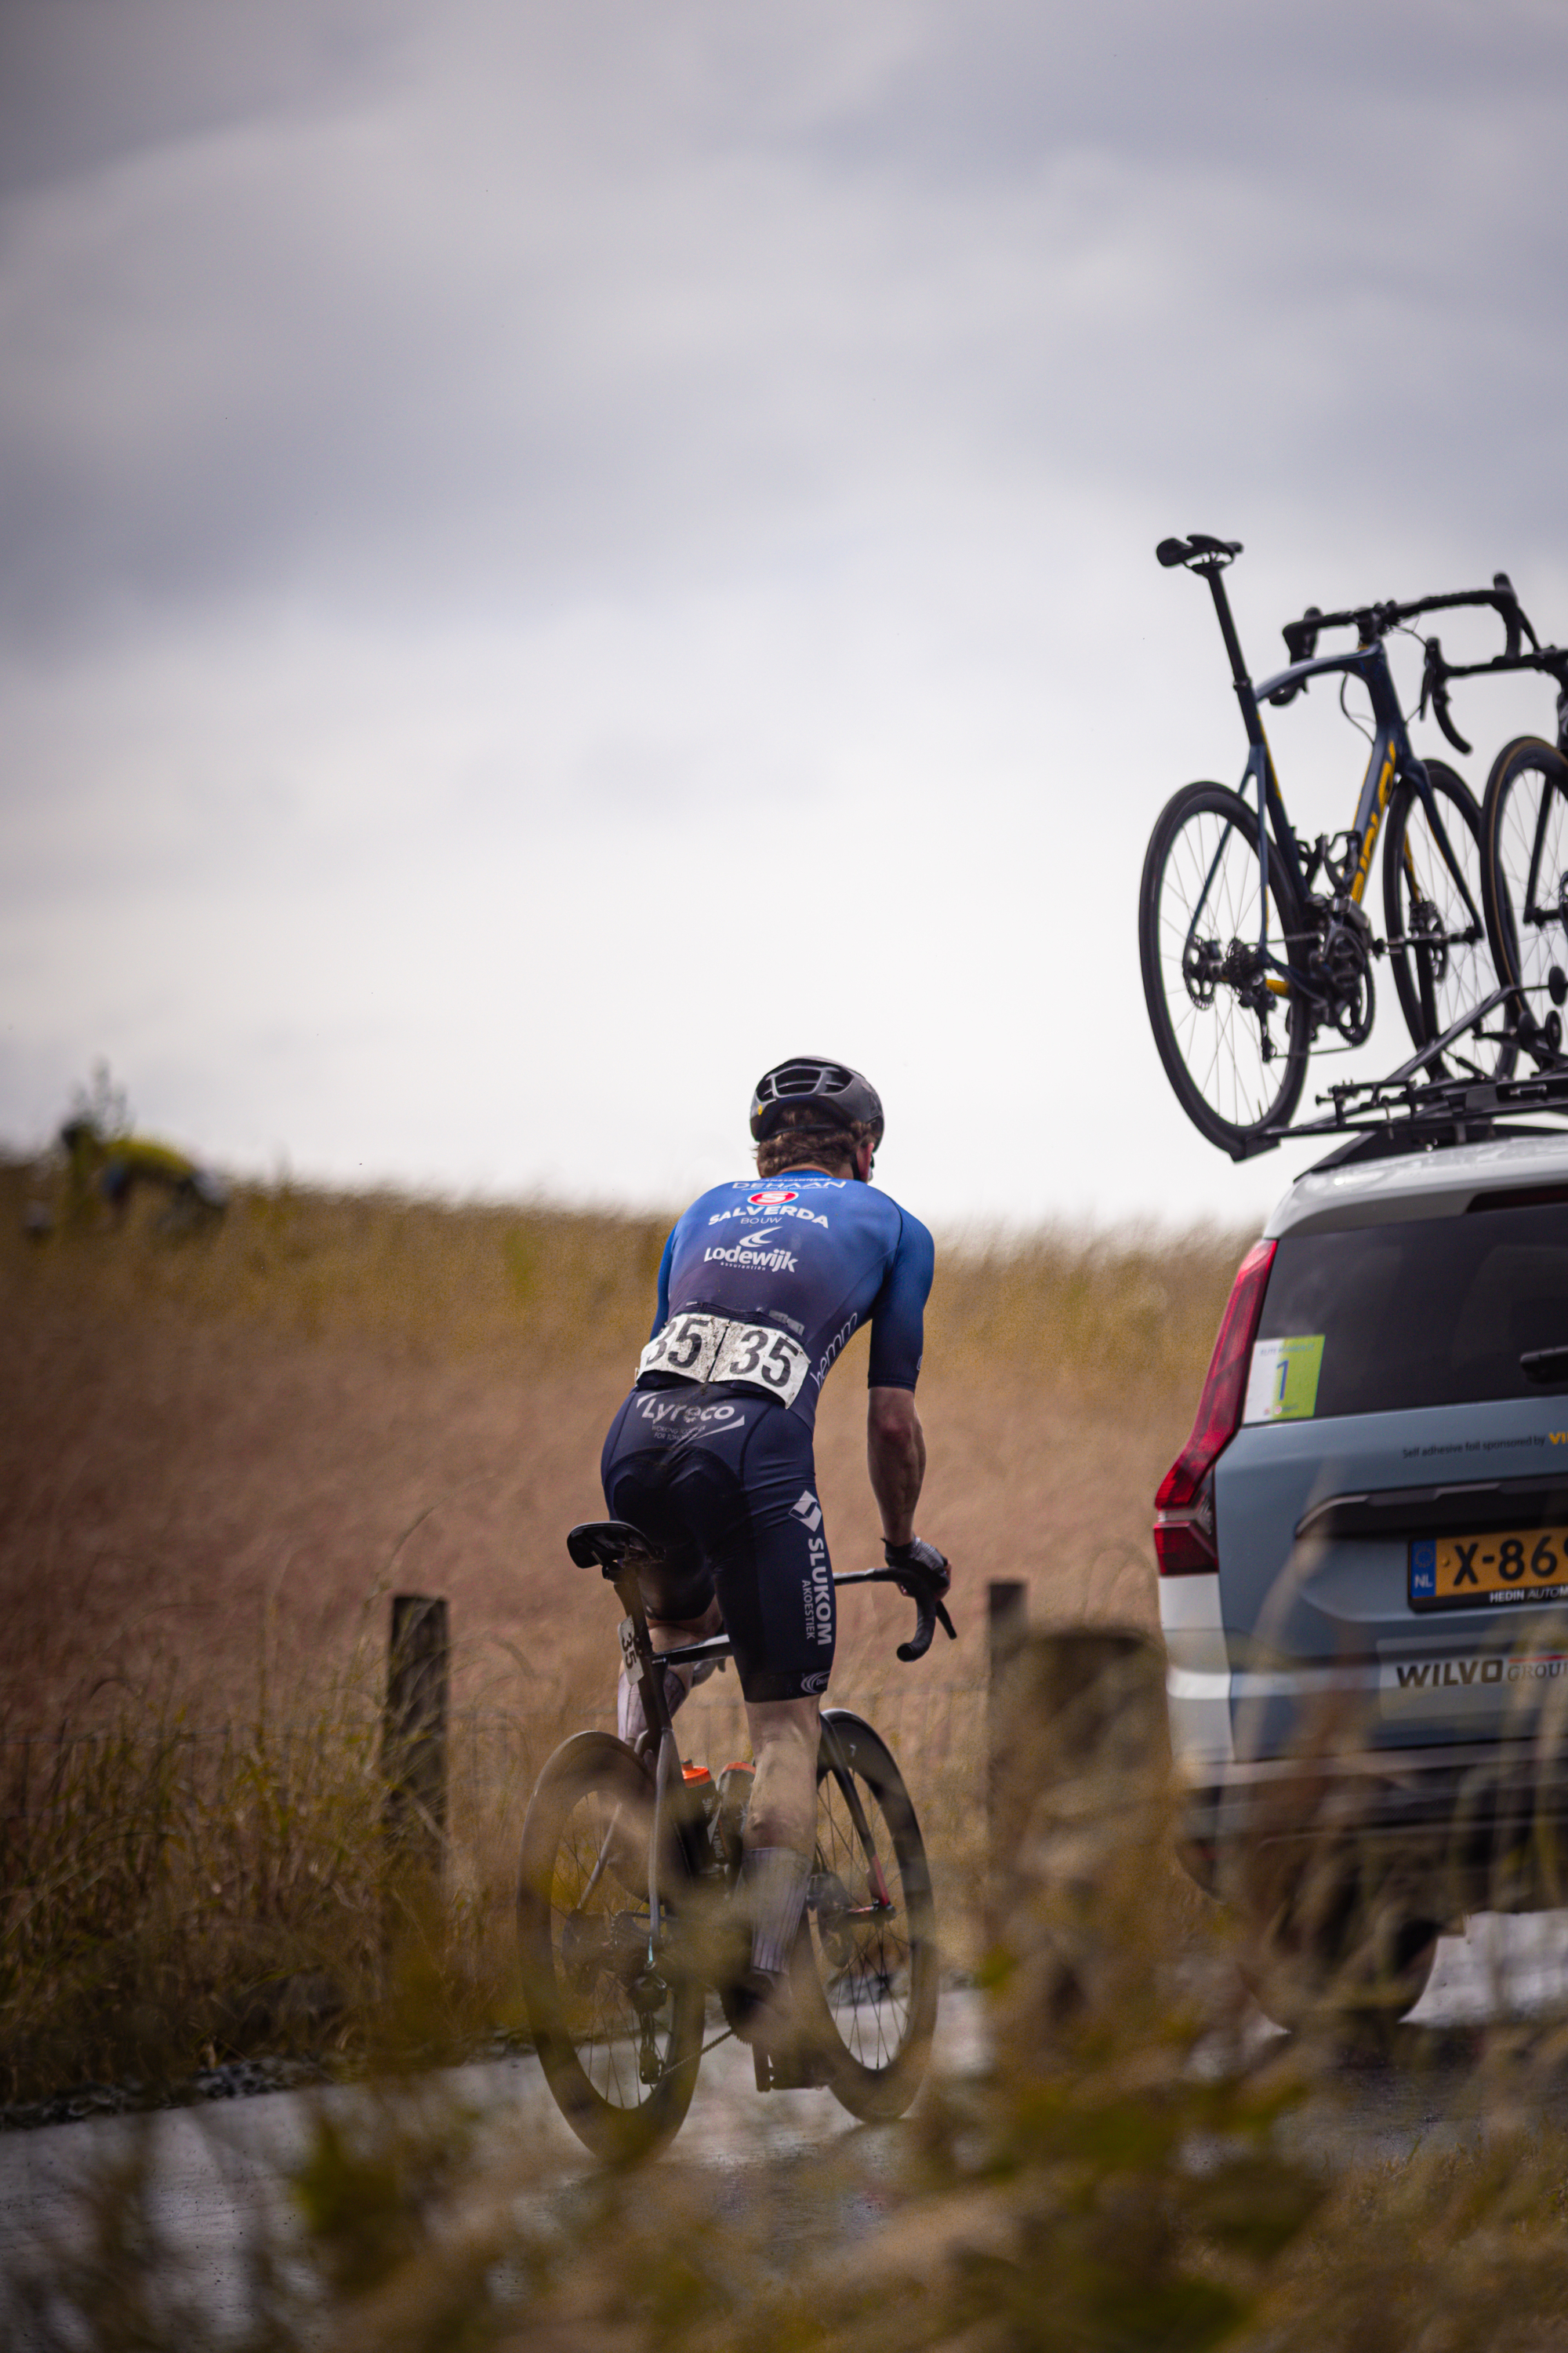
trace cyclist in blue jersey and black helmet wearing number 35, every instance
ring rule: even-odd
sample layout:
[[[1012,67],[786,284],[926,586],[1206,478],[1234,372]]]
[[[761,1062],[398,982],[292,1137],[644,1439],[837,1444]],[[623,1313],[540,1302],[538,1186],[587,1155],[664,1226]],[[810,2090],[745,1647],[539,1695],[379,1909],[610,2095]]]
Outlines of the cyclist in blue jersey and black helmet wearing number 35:
[[[870,1320],[867,1468],[889,1567],[947,1588],[914,1534],[926,1440],[914,1409],[933,1245],[870,1184],[877,1089],[802,1054],[757,1080],[757,1181],[715,1186],[677,1219],[658,1268],[654,1337],[604,1440],[604,1501],[658,1548],[642,1572],[656,1649],[729,1631],[757,1777],[741,1880],[752,1967],[731,2017],[748,2042],[788,2040],[788,1960],[816,1847],[820,1694],[835,1598],[811,1433],[816,1400]],[[665,1668],[670,1711],[691,1668]],[[712,1673],[712,1668],[708,1668]],[[621,1671],[621,1737],[646,1732]]]

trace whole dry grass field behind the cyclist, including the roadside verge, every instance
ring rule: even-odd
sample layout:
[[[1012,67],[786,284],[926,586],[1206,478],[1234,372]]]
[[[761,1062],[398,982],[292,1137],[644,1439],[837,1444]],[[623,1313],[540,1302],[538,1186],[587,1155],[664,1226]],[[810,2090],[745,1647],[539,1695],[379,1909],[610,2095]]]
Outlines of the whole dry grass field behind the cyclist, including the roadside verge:
[[[40,1172],[0,1172],[0,2097],[275,2047],[268,1988],[296,1979],[331,1981],[360,2057],[515,2028],[527,1793],[614,1701],[616,1609],[562,1539],[602,1513],[663,1224],[277,1188],[200,1233],[136,1202],[38,1235],[38,1198]],[[907,1605],[853,1595],[830,1697],[896,1744],[957,1955],[985,1581],[1025,1577],[1037,1617],[1152,1619],[1150,1497],[1234,1259],[1215,1238],[943,1254],[922,1525],[957,1562],[961,1638],[905,1668]],[[842,1567],[879,1558],[863,1386],[860,1341],[820,1414]],[[390,1591],[447,1595],[454,1631],[447,1908],[416,2014],[383,1969]],[[743,1753],[733,1675],[682,1744]]]

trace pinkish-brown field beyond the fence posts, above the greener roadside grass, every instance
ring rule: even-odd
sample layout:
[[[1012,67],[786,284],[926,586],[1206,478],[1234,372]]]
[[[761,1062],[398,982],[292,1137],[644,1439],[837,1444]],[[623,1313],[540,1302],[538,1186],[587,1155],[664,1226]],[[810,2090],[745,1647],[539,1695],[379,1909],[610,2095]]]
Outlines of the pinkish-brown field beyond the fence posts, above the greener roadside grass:
[[[602,1511],[604,1428],[649,1327],[658,1221],[247,1191],[212,1235],[136,1205],[35,1242],[0,1176],[0,1720],[85,1729],[127,1699],[214,1722],[346,1671],[388,1588],[444,1593],[468,1701],[611,1675],[564,1529]],[[947,1249],[931,1301],[922,1527],[1037,1617],[1150,1619],[1150,1501],[1180,1445],[1237,1238]],[[839,1567],[877,1558],[865,1341],[823,1395]],[[889,1659],[844,1612],[839,1680]],[[945,1649],[945,1645],[943,1645]],[[303,1704],[303,1701],[301,1701]]]

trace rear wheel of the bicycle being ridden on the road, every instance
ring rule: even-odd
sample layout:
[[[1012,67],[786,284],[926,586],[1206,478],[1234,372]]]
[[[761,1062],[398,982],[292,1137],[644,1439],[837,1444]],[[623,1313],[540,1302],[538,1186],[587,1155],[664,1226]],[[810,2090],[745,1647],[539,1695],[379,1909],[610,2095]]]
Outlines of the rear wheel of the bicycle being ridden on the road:
[[[609,1732],[555,1751],[522,1826],[517,1937],[538,2059],[576,2137],[621,2162],[679,2132],[703,2049],[703,1979],[679,1937],[696,1882],[675,1831],[649,1962],[651,1828],[654,1784]]]

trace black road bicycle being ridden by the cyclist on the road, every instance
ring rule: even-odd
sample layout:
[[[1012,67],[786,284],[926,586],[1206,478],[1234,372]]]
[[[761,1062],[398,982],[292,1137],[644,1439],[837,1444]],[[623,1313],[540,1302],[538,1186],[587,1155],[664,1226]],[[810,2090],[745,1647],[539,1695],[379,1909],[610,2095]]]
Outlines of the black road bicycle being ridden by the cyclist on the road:
[[[517,1929],[534,2042],[555,2104],[599,2158],[646,2158],[691,2106],[701,2059],[733,2033],[750,1962],[736,1889],[750,1765],[715,1781],[684,1765],[665,1668],[731,1657],[726,1633],[654,1652],[637,1579],[651,1544],[625,1520],[574,1527],[625,1612],[621,1654],[649,1732],[637,1748],[576,1732],[538,1777],[522,1831]],[[858,1569],[835,1586],[898,1584],[917,1605],[922,1659],[952,1619],[919,1569]],[[886,1741],[849,1708],[823,1711],[816,1854],[790,1958],[797,2040],[752,2049],[759,2092],[825,2085],[851,2115],[903,2115],[931,2052],[936,1906],[919,1821]],[[710,1993],[724,2026],[705,2040]]]

